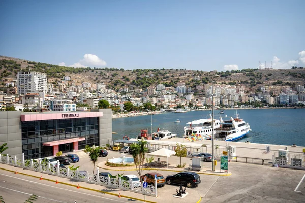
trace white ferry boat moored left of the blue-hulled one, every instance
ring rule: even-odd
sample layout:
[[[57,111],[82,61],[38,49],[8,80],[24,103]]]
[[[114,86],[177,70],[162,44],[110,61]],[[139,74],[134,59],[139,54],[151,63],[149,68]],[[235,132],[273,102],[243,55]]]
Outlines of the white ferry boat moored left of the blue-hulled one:
[[[212,115],[208,119],[188,122],[184,127],[184,136],[200,135],[203,139],[212,139]],[[220,120],[214,119],[214,129],[220,127]]]

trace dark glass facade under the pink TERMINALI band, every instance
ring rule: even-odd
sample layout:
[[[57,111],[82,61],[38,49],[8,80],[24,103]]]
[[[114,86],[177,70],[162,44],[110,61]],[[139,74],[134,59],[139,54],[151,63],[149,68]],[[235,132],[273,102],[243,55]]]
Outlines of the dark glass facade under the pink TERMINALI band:
[[[45,142],[85,138],[79,141],[78,149],[84,149],[86,145],[99,145],[99,117],[22,121],[21,124],[25,159],[52,156],[53,147],[43,146]]]

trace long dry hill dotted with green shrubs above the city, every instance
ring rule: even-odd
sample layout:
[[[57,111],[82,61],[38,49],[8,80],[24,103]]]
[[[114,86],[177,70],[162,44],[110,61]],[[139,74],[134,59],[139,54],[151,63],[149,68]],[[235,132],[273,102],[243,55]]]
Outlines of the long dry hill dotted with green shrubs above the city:
[[[291,69],[242,69],[225,72],[205,72],[187,69],[135,69],[124,70],[116,68],[74,68],[28,61],[24,59],[0,56],[0,81],[16,79],[18,71],[37,71],[47,74],[48,82],[57,84],[64,76],[76,84],[82,82],[104,83],[108,88],[122,87],[147,88],[164,84],[166,87],[176,87],[177,82],[185,82],[187,86],[196,88],[197,85],[208,84],[216,74],[217,84],[245,85],[255,90],[261,85],[295,86],[305,85],[305,69],[292,67]],[[194,80],[199,76],[200,80]]]

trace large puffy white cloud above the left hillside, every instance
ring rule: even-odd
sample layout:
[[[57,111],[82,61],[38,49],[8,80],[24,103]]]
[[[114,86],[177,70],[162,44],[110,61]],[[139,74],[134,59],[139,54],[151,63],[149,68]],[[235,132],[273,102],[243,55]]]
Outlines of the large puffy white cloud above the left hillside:
[[[64,62],[59,63],[60,66],[66,66]],[[85,54],[79,62],[69,65],[69,67],[101,67],[107,65],[106,61],[100,59],[94,54]]]

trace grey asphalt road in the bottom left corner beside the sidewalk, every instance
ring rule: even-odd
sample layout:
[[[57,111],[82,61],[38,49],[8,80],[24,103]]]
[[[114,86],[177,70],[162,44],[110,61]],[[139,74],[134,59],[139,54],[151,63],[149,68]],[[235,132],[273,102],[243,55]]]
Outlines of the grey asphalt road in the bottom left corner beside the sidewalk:
[[[126,198],[102,194],[89,190],[80,190],[71,186],[55,184],[48,181],[39,181],[37,178],[13,176],[11,172],[0,171],[0,196],[6,203],[25,202],[32,194],[38,196],[33,202],[130,202]]]

